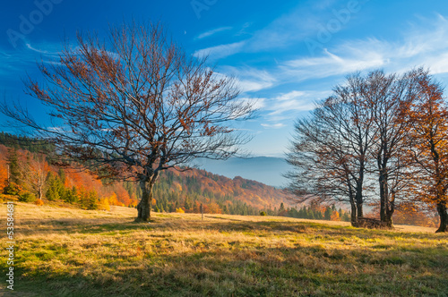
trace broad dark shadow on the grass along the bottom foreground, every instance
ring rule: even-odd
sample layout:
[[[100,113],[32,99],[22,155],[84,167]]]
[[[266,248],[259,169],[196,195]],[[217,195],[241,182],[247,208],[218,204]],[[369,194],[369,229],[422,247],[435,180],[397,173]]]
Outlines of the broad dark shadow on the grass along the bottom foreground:
[[[448,258],[390,250],[232,248],[116,255],[70,273],[18,267],[16,290],[38,296],[446,295]]]

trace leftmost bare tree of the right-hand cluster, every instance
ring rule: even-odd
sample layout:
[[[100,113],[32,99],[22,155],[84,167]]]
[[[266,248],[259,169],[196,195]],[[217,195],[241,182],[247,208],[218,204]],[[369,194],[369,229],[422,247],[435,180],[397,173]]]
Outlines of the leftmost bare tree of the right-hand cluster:
[[[363,216],[367,155],[375,140],[373,109],[363,99],[362,82],[358,74],[349,76],[311,120],[297,121],[288,157],[296,167],[287,174],[290,191],[302,199],[349,201],[352,225]]]

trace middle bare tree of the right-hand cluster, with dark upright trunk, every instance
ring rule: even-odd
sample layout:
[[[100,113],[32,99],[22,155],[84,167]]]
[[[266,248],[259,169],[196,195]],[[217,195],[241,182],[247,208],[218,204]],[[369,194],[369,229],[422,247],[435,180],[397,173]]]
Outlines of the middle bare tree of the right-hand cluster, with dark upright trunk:
[[[410,176],[416,173],[413,161],[406,157],[409,144],[410,105],[417,98],[417,80],[425,71],[418,69],[386,75],[370,72],[364,81],[364,99],[372,103],[375,123],[375,142],[372,157],[378,178],[380,219],[392,227],[392,215],[397,199],[409,195]]]

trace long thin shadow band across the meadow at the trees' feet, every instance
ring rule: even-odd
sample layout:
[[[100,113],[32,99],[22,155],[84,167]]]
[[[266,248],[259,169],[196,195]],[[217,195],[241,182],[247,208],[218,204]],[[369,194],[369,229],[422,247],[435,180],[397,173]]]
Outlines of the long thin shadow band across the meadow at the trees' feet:
[[[211,218],[215,218],[210,216]],[[0,228],[0,231],[4,227]],[[213,221],[188,220],[185,218],[155,217],[150,224],[135,223],[130,218],[66,218],[66,219],[21,219],[16,230],[23,234],[36,233],[126,233],[137,230],[219,230],[220,232],[276,232],[276,233],[314,233],[319,232],[330,237],[358,237],[372,239],[386,237],[396,239],[422,239],[431,236],[428,233],[391,232],[354,228],[341,225],[325,225],[314,222],[279,222],[279,221],[243,221],[216,217]],[[439,234],[443,237],[444,234]]]

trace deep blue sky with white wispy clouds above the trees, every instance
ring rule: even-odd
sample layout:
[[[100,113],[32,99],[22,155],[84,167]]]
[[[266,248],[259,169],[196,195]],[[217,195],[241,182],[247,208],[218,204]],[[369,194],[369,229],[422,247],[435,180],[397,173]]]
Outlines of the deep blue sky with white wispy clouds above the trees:
[[[38,118],[45,110],[22,79],[39,75],[36,61],[55,59],[64,38],[132,18],[162,21],[187,53],[236,75],[241,98],[260,107],[237,127],[254,135],[255,156],[281,157],[297,117],[350,72],[423,65],[448,85],[446,1],[21,0],[4,2],[0,17],[0,90]]]

